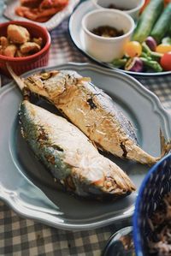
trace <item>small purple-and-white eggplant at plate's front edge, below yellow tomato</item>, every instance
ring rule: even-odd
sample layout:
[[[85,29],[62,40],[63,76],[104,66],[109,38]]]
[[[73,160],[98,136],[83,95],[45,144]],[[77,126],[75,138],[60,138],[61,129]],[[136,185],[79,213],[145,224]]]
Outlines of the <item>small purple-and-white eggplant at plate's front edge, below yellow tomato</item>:
[[[143,61],[139,57],[130,58],[125,65],[127,71],[142,72],[143,68]]]

